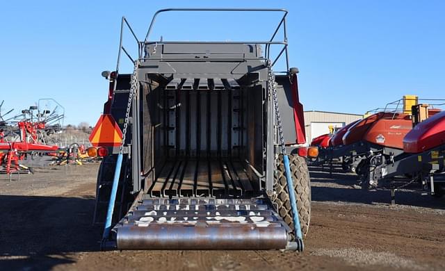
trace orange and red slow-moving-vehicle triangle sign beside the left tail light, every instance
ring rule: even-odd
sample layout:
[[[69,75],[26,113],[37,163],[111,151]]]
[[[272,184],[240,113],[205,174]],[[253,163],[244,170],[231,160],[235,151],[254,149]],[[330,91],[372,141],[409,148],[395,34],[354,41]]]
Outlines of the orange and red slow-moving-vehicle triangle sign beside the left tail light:
[[[91,145],[94,147],[118,147],[122,142],[122,131],[110,114],[99,117],[95,129],[90,135]]]

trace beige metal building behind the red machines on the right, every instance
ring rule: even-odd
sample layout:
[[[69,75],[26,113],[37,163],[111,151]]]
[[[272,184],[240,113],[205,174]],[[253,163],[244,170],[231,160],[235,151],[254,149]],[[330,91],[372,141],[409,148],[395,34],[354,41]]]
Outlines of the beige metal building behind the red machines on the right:
[[[306,140],[310,143],[313,138],[329,133],[329,126],[340,128],[362,118],[363,115],[349,113],[305,111]]]

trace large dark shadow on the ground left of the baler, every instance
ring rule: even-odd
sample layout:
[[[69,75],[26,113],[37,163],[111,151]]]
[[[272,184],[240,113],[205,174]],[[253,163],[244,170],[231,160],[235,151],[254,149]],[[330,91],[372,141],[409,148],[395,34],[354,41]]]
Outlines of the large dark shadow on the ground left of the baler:
[[[94,197],[0,195],[0,270],[48,270],[99,249]]]

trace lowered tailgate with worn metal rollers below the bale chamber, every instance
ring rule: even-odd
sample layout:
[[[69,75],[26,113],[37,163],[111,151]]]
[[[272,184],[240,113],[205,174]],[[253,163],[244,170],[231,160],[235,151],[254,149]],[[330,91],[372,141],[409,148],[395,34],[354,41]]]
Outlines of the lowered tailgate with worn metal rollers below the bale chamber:
[[[262,199],[143,199],[114,227],[118,249],[284,249],[289,227]]]

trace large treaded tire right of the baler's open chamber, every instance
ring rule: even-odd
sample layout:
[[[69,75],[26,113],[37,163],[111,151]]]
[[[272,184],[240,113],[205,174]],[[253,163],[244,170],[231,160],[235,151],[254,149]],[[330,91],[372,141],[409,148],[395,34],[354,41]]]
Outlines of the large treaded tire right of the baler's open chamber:
[[[289,164],[293,181],[293,190],[297,198],[298,217],[300,218],[301,232],[303,238],[309,231],[309,222],[311,220],[311,183],[309,180],[309,170],[306,161],[298,155],[289,155]],[[278,165],[274,174],[274,189],[271,197],[272,202],[277,207],[277,212],[281,215],[284,222],[292,229],[293,220],[289,192],[287,190],[286,173],[284,172],[283,156],[278,158]]]

